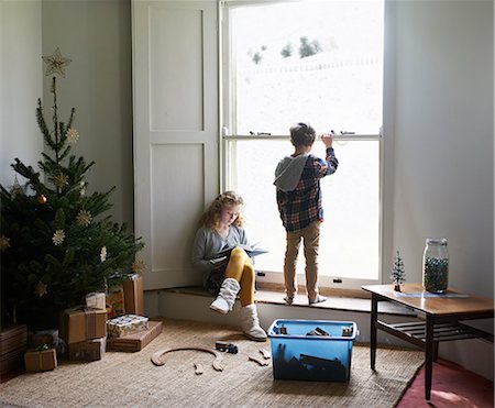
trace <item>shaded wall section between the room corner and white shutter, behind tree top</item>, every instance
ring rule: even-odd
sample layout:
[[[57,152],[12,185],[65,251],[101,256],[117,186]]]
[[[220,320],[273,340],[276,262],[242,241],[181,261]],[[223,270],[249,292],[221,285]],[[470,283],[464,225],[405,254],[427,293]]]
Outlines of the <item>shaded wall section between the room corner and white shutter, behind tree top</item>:
[[[43,55],[73,59],[57,77],[59,120],[76,108],[73,154],[95,166],[87,192],[107,191],[116,222],[133,225],[131,5],[129,0],[43,0]],[[51,77],[44,100],[52,106]],[[50,104],[48,104],[50,102]]]

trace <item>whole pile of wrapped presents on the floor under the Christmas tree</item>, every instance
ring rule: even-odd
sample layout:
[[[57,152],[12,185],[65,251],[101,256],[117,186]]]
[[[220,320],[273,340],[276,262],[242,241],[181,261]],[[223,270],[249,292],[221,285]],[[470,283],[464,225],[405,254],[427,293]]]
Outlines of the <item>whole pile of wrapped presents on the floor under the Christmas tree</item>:
[[[59,330],[28,332],[25,326],[2,330],[0,375],[19,370],[22,363],[28,373],[54,370],[62,356],[101,360],[107,346],[140,351],[162,332],[161,321],[148,321],[143,315],[142,277],[132,275],[109,294],[89,294],[86,306],[64,310]]]

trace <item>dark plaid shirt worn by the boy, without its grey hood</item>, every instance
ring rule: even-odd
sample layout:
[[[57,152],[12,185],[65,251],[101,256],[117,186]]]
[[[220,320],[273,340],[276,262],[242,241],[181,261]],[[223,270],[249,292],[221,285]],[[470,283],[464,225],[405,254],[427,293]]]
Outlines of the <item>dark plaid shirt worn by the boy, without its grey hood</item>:
[[[327,148],[326,162],[310,154],[292,191],[277,188],[277,205],[282,223],[287,232],[298,231],[314,221],[323,221],[320,178],[333,174],[339,166],[332,147]]]

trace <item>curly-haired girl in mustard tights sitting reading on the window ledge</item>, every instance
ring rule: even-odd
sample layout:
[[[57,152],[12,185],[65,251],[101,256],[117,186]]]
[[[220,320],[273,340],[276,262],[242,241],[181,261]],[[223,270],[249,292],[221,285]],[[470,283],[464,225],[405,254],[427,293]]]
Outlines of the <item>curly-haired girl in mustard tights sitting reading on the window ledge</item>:
[[[255,341],[265,341],[254,305],[254,266],[241,247],[249,245],[241,216],[242,198],[234,191],[219,195],[202,214],[193,246],[193,264],[204,272],[204,286],[217,299],[210,309],[220,313],[232,310],[239,294],[241,328]],[[223,255],[227,249],[233,250]]]

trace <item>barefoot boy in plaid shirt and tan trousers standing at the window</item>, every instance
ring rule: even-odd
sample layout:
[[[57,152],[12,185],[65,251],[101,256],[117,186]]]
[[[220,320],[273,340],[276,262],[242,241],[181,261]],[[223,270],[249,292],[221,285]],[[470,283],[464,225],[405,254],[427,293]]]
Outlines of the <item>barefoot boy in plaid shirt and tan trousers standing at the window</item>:
[[[327,300],[318,293],[318,246],[320,223],[323,221],[320,178],[337,170],[331,134],[321,135],[327,148],[326,161],[310,153],[316,132],[306,123],[290,128],[290,142],[295,152],[284,157],[275,170],[276,197],[282,223],[287,231],[284,261],[285,302],[292,305],[297,293],[296,261],[300,241],[306,258],[306,290],[309,305]]]

